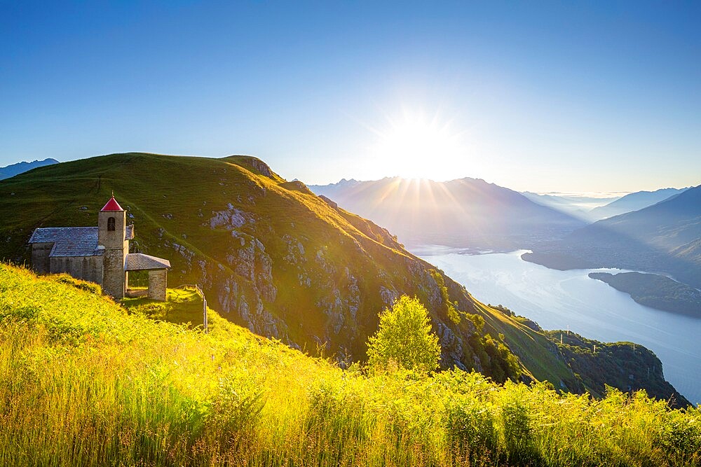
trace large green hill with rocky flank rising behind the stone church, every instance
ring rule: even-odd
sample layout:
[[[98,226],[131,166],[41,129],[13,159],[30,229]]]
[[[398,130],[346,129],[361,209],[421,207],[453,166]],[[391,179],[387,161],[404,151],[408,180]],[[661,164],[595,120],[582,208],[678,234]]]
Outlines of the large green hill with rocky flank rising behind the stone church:
[[[251,157],[117,154],[2,181],[0,256],[27,260],[36,227],[95,225],[112,190],[135,223],[132,249],[170,259],[171,286],[201,284],[213,307],[256,333],[355,361],[365,358],[379,310],[416,295],[432,315],[444,366],[517,377],[522,369],[501,333],[519,357],[537,355],[536,378],[577,389],[543,335],[496,316],[385,229]]]

